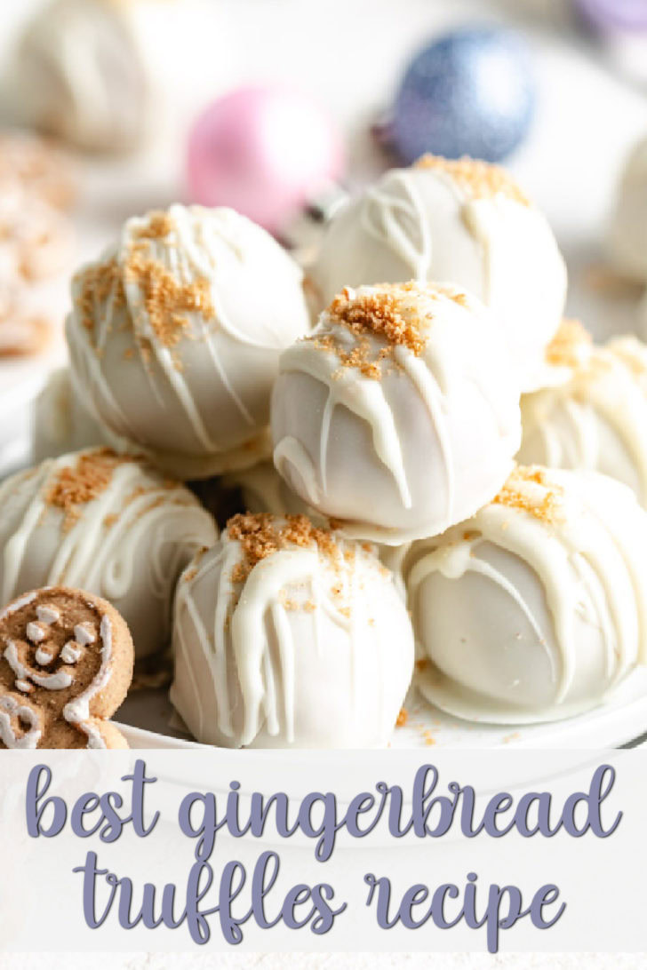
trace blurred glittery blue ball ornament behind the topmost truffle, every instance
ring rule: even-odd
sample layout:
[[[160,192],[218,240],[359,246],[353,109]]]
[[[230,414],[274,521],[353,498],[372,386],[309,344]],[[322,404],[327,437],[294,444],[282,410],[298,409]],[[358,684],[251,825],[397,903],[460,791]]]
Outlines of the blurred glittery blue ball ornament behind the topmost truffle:
[[[460,28],[418,53],[396,96],[391,145],[405,162],[426,151],[499,162],[534,115],[531,53],[514,31]]]

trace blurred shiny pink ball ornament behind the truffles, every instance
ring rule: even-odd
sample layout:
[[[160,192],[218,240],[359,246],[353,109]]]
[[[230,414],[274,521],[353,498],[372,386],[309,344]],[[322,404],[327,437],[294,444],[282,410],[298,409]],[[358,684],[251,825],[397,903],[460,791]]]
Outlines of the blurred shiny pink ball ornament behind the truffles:
[[[230,206],[273,233],[342,172],[339,131],[318,105],[290,88],[226,94],[189,135],[191,200]]]

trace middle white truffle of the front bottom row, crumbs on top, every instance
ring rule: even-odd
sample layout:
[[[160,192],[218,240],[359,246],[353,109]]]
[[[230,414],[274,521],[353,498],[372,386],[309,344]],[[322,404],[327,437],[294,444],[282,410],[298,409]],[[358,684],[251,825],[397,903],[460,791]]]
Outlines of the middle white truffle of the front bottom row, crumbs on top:
[[[178,583],[171,699],[228,748],[384,747],[411,624],[371,548],[305,516],[240,515]]]

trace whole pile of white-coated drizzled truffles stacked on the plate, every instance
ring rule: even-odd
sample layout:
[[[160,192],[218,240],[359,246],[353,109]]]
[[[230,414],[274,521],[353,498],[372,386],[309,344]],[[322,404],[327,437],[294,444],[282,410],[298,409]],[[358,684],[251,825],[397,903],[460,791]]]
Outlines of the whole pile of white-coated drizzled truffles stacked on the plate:
[[[171,630],[172,700],[210,744],[384,745],[416,650],[422,693],[469,719],[598,704],[646,653],[647,351],[562,322],[550,228],[477,161],[340,211],[314,327],[302,284],[243,216],[180,206],[81,270],[37,445],[110,448],[5,484],[3,598],[84,585],[140,658]],[[219,538],[167,474],[237,490]]]

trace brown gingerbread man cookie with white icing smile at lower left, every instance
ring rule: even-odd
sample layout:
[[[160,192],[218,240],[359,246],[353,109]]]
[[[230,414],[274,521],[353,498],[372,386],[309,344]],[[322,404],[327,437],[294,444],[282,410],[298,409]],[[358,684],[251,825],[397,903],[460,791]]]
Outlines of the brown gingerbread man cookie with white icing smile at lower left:
[[[133,656],[105,599],[62,586],[14,599],[0,611],[0,748],[126,748],[107,719]]]

